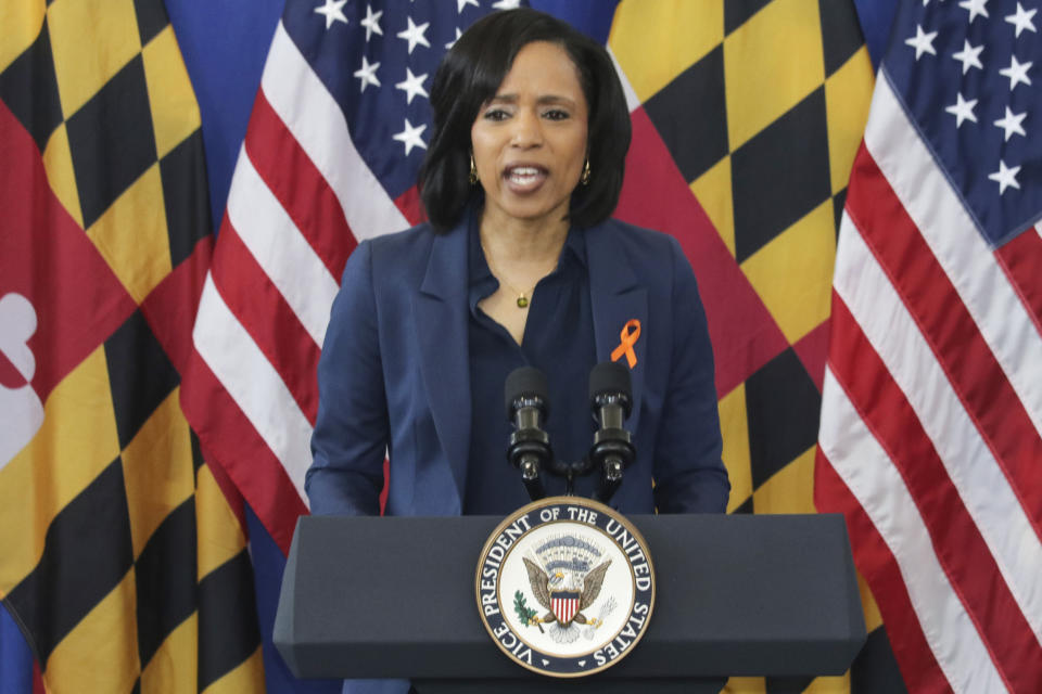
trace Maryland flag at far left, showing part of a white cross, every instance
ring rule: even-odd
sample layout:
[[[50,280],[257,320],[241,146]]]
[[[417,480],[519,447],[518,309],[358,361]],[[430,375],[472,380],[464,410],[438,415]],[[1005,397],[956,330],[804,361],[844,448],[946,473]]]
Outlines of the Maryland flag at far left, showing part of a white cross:
[[[242,526],[179,407],[212,234],[166,11],[0,27],[0,596],[48,691],[260,690]]]

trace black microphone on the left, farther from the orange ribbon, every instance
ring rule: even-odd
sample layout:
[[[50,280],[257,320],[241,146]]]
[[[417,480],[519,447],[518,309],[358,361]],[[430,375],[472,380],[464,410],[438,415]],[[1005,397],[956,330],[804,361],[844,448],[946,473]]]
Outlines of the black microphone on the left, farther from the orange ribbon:
[[[542,424],[549,413],[546,375],[534,367],[514,369],[504,385],[507,421],[513,424],[507,460],[521,471],[521,481],[532,501],[546,496],[539,473],[554,460],[550,437]]]

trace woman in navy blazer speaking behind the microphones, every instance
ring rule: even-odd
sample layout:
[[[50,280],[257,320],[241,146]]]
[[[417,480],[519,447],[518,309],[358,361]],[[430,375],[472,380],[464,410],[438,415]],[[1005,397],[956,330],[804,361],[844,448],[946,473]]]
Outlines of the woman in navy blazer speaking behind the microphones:
[[[670,236],[609,219],[631,128],[607,51],[548,15],[494,13],[448,52],[431,105],[419,181],[429,222],[361,243],[333,304],[312,511],[378,513],[385,452],[390,515],[516,510],[529,498],[505,457],[506,376],[522,365],[547,375],[545,428],[556,458],[576,461],[595,430],[590,369],[612,360],[631,370],[637,451],[612,505],[723,512],[712,350],[690,265]]]

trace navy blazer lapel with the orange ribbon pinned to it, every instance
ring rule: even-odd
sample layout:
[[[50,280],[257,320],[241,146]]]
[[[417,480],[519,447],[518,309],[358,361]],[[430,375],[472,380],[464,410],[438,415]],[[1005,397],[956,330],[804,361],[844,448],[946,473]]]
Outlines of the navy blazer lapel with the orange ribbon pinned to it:
[[[623,246],[614,239],[611,227],[601,226],[586,233],[586,255],[589,260],[589,295],[594,311],[594,334],[597,340],[597,361],[612,361],[611,355],[623,343],[623,333],[627,335],[626,323],[639,321],[640,335],[631,345],[636,363],[630,369],[633,381],[633,413],[626,421],[626,428],[636,432],[640,424],[640,397],[644,393],[644,370],[646,346],[648,344],[648,293],[638,282],[622,250]],[[618,352],[623,364],[628,365],[624,347]]]

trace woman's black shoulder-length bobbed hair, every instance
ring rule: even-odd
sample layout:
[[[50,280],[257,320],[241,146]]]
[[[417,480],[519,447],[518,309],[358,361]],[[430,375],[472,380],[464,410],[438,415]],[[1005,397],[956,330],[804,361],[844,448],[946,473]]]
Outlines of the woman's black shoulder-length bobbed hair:
[[[482,200],[468,181],[470,130],[482,105],[496,94],[518,52],[533,41],[560,46],[579,69],[589,123],[590,180],[572,193],[569,218],[579,227],[607,219],[619,204],[630,110],[605,48],[548,14],[522,8],[494,12],[475,22],[445,54],[431,85],[433,130],[419,171],[420,200],[437,231],[455,226],[470,204]]]

